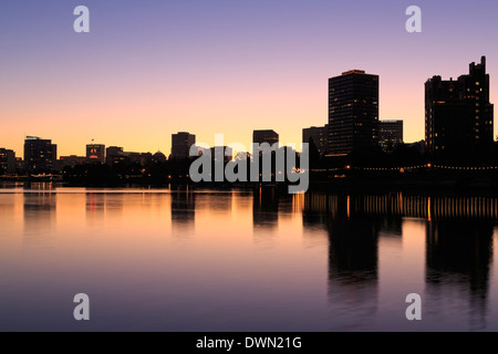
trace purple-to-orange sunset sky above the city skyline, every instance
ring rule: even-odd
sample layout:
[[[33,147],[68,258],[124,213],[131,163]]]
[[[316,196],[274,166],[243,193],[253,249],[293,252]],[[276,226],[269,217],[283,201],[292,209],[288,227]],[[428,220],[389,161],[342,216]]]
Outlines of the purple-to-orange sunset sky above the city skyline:
[[[90,33],[73,30],[81,4]],[[422,33],[405,30],[412,4]],[[2,0],[0,147],[22,157],[34,135],[60,156],[92,139],[169,154],[186,131],[249,149],[264,128],[300,144],[328,123],[328,79],[351,69],[380,75],[380,118],[419,140],[433,75],[456,79],[486,55],[498,103],[497,17],[488,0]]]

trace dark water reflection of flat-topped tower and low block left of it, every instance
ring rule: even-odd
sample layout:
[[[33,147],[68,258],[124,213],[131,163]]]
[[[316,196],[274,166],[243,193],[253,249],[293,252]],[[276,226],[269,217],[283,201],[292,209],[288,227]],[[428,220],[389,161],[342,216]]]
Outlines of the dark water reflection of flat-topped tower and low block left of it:
[[[378,232],[382,218],[356,210],[351,196],[309,194],[303,225],[324,225],[329,235],[329,301],[341,327],[373,319],[377,311]]]

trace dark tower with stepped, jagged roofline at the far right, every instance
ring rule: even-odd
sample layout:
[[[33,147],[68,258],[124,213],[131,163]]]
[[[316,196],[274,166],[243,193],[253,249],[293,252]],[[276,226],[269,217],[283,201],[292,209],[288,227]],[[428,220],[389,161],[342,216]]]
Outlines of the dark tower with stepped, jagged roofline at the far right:
[[[433,76],[425,83],[425,140],[434,152],[463,152],[492,143],[486,56],[457,80]]]

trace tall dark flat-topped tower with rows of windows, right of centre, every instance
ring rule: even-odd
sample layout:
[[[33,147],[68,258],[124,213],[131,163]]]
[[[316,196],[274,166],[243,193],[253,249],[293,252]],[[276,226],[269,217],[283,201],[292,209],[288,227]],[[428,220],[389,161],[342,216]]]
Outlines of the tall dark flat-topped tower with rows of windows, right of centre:
[[[351,70],[329,79],[328,155],[378,144],[378,75]]]

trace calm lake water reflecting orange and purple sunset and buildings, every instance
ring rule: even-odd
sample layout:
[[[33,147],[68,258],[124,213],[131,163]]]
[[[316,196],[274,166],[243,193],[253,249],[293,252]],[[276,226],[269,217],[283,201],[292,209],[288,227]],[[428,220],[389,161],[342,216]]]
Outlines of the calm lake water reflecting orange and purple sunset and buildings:
[[[497,220],[483,196],[4,188],[0,330],[498,331]]]

